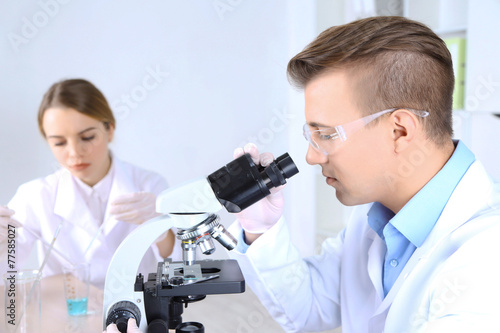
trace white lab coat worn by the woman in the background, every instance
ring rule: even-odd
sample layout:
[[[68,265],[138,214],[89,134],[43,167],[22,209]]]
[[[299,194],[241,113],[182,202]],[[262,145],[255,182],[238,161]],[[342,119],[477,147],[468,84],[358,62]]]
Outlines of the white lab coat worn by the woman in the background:
[[[51,243],[60,221],[63,226],[54,243],[54,249],[63,253],[73,263],[90,263],[91,282],[104,287],[104,279],[109,262],[122,240],[137,225],[117,221],[109,215],[109,205],[121,194],[131,192],[152,192],[158,195],[168,185],[160,175],[143,170],[134,165],[113,158],[114,177],[106,207],[103,228],[87,250],[94,236],[98,233],[101,222],[95,220],[88,210],[85,200],[76,188],[75,180],[69,171],[60,169],[57,172],[26,184],[17,190],[8,207],[15,211],[13,216],[23,225],[40,235],[47,243]],[[16,237],[16,266],[32,250],[36,238],[20,228]],[[45,247],[45,250],[47,246]],[[41,256],[45,254],[42,253]],[[61,266],[67,260],[55,251],[51,252],[49,261],[44,267],[44,276],[61,273]],[[43,258],[40,258],[40,262]],[[139,271],[147,276],[155,272],[157,263],[162,258],[156,245],[151,246],[145,254]],[[32,267],[37,268],[37,267]],[[5,268],[4,268],[5,269]]]

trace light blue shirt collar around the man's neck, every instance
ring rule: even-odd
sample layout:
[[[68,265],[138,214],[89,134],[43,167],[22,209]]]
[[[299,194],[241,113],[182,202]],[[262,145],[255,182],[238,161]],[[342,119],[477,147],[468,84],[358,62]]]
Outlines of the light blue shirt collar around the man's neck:
[[[398,214],[392,214],[380,203],[375,203],[368,212],[370,227],[382,234],[387,222],[391,223],[413,245],[423,244],[439,219],[446,203],[470,165],[474,154],[461,141],[443,168],[406,203]],[[385,223],[384,223],[385,222]],[[381,236],[383,238],[383,234]]]

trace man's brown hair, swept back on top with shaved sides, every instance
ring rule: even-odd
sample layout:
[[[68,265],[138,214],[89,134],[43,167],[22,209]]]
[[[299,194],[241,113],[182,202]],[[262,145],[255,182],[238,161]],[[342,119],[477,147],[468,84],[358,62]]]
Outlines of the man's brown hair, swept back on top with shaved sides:
[[[321,74],[346,70],[362,115],[389,108],[426,110],[436,144],[453,134],[453,64],[446,44],[422,23],[378,16],[323,31],[288,63],[290,82],[304,88]]]

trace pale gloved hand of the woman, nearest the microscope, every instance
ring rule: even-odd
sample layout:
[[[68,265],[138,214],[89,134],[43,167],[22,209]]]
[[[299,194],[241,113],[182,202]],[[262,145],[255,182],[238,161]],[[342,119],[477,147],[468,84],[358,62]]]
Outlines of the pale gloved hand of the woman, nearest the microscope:
[[[109,213],[119,221],[133,224],[142,224],[160,215],[156,212],[156,195],[148,192],[127,193],[116,197]]]

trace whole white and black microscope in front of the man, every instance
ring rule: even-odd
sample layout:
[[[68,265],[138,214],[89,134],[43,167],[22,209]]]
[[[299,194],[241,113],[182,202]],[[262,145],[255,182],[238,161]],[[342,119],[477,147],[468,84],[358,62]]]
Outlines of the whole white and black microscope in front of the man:
[[[224,207],[238,213],[284,185],[299,171],[285,153],[267,167],[257,166],[245,154],[206,178],[162,192],[157,212],[125,238],[108,267],[104,286],[103,327],[115,323],[126,333],[127,321],[134,318],[141,332],[203,333],[198,322],[182,322],[183,308],[206,295],[242,293],[245,280],[235,260],[196,260],[197,248],[203,254],[215,251],[213,240],[226,249],[236,239],[220,224],[215,213]],[[182,262],[159,262],[156,272],[137,274],[142,257],[162,235],[177,229]]]

